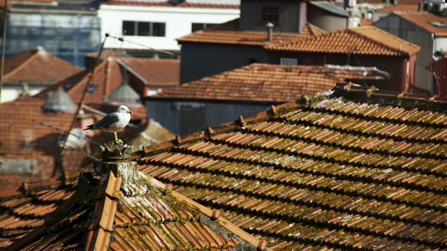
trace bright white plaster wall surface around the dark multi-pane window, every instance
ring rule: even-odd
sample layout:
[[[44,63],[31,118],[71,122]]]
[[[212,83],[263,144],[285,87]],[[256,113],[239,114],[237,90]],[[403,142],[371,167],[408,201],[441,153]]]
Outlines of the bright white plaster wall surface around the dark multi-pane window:
[[[166,23],[165,37],[124,36],[124,40],[141,45],[107,38],[104,47],[123,49],[147,49],[147,47],[151,47],[158,50],[180,50],[175,39],[191,33],[192,23],[220,24],[234,20],[239,16],[239,9],[218,8],[112,6],[103,4],[98,10],[98,17],[101,18],[102,40],[105,33],[109,33],[110,36],[122,37],[123,20]]]

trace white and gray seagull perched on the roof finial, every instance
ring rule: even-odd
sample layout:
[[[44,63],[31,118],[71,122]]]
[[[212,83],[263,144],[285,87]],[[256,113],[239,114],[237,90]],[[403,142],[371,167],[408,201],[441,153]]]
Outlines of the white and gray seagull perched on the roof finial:
[[[129,111],[126,105],[121,105],[118,107],[117,112],[105,115],[103,119],[87,126],[84,130],[113,130],[115,132],[115,142],[122,144],[122,140],[118,139],[117,130],[127,126],[129,121],[131,121],[131,114],[133,112]]]

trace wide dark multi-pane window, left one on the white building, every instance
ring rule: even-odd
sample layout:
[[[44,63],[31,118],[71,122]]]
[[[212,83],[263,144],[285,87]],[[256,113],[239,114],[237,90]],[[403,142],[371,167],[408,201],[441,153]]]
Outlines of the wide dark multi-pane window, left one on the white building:
[[[159,22],[123,21],[125,36],[165,36],[166,24]]]

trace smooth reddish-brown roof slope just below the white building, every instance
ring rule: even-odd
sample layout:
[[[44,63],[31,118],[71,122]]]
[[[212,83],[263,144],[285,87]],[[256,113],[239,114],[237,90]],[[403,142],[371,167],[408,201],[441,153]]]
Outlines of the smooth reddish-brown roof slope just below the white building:
[[[179,85],[179,59],[121,58],[126,66],[145,79],[147,84]]]

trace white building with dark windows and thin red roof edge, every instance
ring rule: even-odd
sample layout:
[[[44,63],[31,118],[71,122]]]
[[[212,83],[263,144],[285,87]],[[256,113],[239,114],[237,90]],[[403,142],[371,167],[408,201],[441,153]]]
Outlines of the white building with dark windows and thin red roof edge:
[[[98,17],[108,38],[104,47],[179,51],[175,39],[192,31],[234,20],[240,16],[240,0],[108,0]]]

